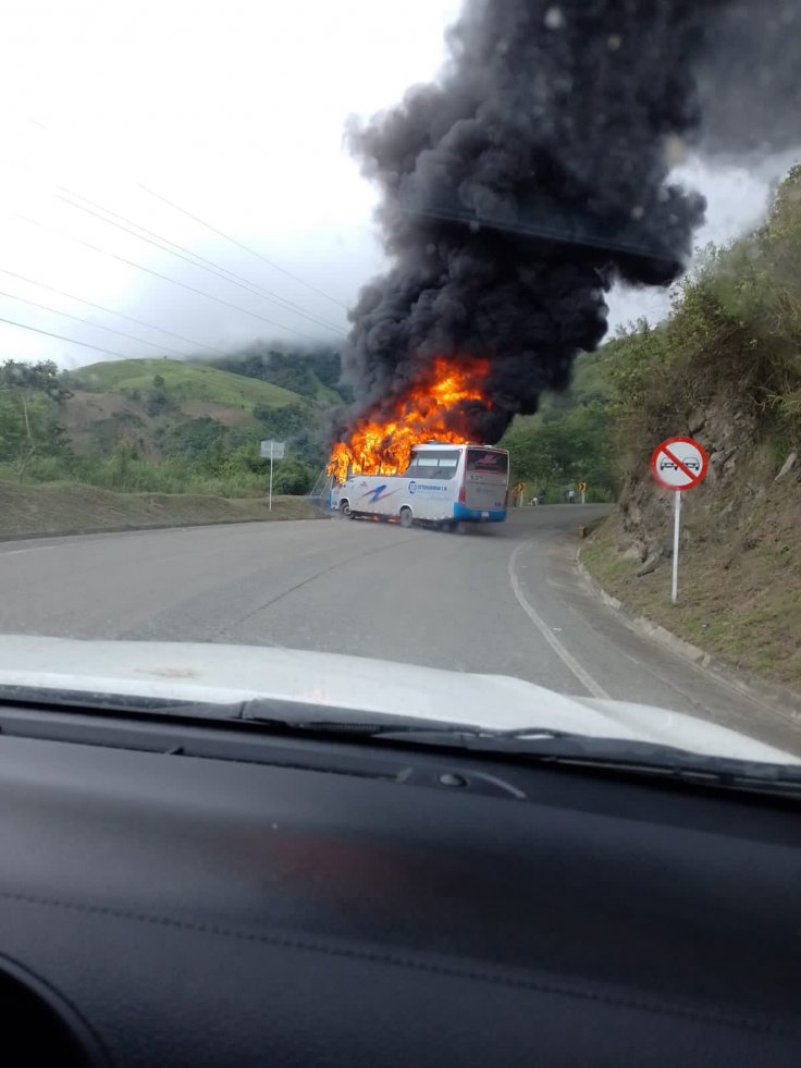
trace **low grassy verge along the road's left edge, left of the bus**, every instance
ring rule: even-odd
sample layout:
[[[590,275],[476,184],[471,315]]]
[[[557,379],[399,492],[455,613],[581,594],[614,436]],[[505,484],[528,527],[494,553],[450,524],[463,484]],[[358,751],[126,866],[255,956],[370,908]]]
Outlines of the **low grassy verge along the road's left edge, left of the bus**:
[[[322,515],[305,498],[229,500],[167,493],[112,493],[75,482],[19,486],[0,482],[0,538],[153,527],[313,519]]]

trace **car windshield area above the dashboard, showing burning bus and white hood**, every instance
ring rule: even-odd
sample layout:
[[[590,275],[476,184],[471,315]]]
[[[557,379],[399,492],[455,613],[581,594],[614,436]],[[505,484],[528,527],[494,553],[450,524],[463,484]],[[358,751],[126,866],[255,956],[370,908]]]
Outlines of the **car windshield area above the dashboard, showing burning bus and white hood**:
[[[0,700],[801,757],[799,54],[796,0],[9,0]]]

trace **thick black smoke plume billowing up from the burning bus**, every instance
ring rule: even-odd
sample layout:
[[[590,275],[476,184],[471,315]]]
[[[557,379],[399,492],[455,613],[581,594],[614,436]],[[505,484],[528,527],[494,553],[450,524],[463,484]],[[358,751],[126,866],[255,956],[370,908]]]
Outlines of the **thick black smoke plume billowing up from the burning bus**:
[[[440,78],[349,130],[393,265],[350,312],[356,413],[435,355],[491,359],[492,407],[470,416],[486,442],[564,388],[611,285],[688,260],[705,206],[668,181],[680,154],[801,143],[798,7],[467,0]]]

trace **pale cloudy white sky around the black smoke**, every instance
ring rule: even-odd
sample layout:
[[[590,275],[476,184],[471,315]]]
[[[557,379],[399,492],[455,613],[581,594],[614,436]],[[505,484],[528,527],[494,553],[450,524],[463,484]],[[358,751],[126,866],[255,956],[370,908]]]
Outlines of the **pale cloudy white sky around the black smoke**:
[[[341,343],[383,266],[345,123],[435,76],[459,7],[4,0],[0,320],[46,333],[0,322],[0,360]],[[686,163],[698,245],[753,225],[789,162]],[[613,328],[667,308],[608,303]]]

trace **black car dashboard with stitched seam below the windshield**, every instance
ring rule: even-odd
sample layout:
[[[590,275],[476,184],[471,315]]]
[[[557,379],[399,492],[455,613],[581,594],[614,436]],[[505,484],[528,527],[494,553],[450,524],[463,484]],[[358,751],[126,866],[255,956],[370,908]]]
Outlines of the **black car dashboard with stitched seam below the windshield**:
[[[791,799],[256,724],[0,732],[21,1064],[801,1064]]]

